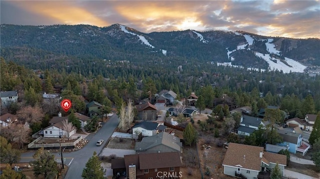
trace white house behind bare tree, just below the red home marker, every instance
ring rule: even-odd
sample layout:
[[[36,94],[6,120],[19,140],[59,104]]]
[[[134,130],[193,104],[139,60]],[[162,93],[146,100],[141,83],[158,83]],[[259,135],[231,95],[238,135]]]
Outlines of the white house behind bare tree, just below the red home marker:
[[[62,128],[63,128],[62,121],[55,123],[51,126],[48,126],[43,129],[43,137],[59,138],[59,136],[62,136],[67,138],[68,136],[72,136],[73,134],[75,134],[76,129],[74,129],[68,134],[66,131],[62,130]]]

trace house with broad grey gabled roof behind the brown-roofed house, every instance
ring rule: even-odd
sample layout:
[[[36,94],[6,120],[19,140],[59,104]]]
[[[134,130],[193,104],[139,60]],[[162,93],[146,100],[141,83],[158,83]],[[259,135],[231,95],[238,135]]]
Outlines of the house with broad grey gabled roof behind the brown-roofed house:
[[[135,143],[136,154],[181,152],[180,139],[166,132],[154,136],[144,137]]]

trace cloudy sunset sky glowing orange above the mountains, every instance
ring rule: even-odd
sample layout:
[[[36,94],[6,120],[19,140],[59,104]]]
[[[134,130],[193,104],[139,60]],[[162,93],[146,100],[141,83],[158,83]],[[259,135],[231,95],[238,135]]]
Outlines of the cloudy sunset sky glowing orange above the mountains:
[[[242,30],[320,38],[319,0],[0,0],[0,23],[115,23],[141,32]]]

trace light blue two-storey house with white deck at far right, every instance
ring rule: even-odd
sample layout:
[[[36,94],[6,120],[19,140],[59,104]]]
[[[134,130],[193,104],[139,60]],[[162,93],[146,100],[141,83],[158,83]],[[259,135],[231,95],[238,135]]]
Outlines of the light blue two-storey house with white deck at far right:
[[[310,145],[302,141],[302,134],[281,129],[277,129],[277,132],[283,138],[283,143],[277,145],[288,147],[290,153],[301,152],[304,155],[309,150]]]

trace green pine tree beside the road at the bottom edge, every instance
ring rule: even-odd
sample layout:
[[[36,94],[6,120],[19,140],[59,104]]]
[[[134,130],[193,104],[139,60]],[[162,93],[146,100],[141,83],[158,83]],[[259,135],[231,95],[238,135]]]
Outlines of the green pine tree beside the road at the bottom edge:
[[[101,162],[94,151],[93,156],[85,164],[81,177],[82,179],[104,179],[103,175],[104,171],[101,167]]]

